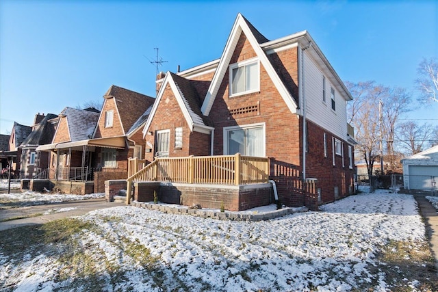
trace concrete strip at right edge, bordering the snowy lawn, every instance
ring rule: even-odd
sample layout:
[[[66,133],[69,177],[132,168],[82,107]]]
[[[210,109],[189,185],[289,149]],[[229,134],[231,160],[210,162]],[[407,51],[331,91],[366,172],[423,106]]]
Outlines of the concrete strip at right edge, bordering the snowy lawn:
[[[425,195],[415,194],[420,214],[424,217],[426,234],[430,241],[430,248],[435,255],[435,267],[438,269],[438,213],[432,204],[426,200]]]

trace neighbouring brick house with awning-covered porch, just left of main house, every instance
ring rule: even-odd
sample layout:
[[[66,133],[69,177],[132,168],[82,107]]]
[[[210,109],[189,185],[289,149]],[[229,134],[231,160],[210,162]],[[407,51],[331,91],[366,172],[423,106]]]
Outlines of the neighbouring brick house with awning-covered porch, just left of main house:
[[[66,107],[49,145],[49,178],[69,193],[104,192],[106,180],[127,178],[129,157],[142,158],[142,126],[155,98],[112,85],[101,111]]]

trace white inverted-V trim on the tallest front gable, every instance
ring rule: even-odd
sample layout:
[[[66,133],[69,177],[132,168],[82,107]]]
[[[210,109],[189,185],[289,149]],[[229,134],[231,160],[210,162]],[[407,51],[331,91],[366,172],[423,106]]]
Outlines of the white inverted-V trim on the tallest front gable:
[[[296,114],[297,105],[294,101],[294,98],[281,81],[279,75],[276,74],[274,68],[272,67],[272,64],[270,64],[269,62],[268,57],[264,53],[263,49],[261,49],[259,43],[255,39],[255,36],[251,33],[250,28],[246,24],[246,21],[244,20],[242,14],[237,14],[233,29],[231,29],[231,34],[227,40],[227,44],[222,53],[222,56],[220,57],[218,70],[216,70],[213,80],[211,81],[209,90],[207,91],[207,96],[205,96],[203,106],[201,107],[202,113],[205,116],[208,116],[210,113],[211,107],[214,103],[214,99],[216,98],[216,94],[218,94],[220,84],[222,83],[222,79],[224,79],[225,72],[227,72],[231,56],[233,55],[235,46],[242,32],[245,34],[246,38],[250,42],[261,64],[263,64],[263,67],[266,69],[266,72],[268,72],[268,75],[274,83],[276,89],[279,90],[279,93],[285,101],[287,107],[292,112],[292,114]]]

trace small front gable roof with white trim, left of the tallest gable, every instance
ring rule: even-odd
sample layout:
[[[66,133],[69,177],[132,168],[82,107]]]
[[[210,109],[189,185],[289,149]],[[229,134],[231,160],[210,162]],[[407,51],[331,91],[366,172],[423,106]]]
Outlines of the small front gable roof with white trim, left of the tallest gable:
[[[157,111],[159,102],[162,100],[167,85],[170,85],[175,98],[177,98],[179,107],[181,108],[185,121],[187,122],[191,131],[194,129],[198,131],[209,131],[213,129],[209,118],[204,116],[201,112],[201,98],[199,98],[198,92],[196,91],[196,88],[192,82],[189,79],[185,79],[184,77],[178,76],[172,72],[167,72],[162,86],[159,89],[157,101],[155,101],[151,110],[151,114],[144,125],[144,135],[151,125],[153,116],[155,116],[155,112]]]

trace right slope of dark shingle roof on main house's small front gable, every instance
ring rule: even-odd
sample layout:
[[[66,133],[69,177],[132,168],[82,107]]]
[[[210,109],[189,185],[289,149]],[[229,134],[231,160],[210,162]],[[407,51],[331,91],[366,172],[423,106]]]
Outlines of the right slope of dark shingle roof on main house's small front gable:
[[[170,72],[170,76],[179,88],[179,93],[181,97],[185,100],[185,105],[188,107],[188,111],[194,123],[205,124],[206,126],[213,126],[211,120],[202,114],[201,106],[202,101],[196,90],[196,87],[191,80],[185,79],[184,77],[178,76]],[[196,81],[193,81],[196,82]]]

